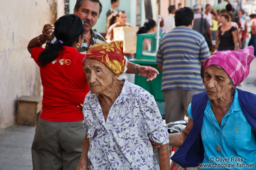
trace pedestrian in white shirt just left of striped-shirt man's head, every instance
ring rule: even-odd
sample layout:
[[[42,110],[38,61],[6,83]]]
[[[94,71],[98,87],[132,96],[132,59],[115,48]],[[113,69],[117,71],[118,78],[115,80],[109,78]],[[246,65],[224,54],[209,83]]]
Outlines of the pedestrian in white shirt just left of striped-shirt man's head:
[[[168,7],[169,15],[164,19],[164,30],[166,33],[170,32],[171,29],[175,27],[175,19],[174,19],[175,11],[176,11],[175,5],[170,5]]]

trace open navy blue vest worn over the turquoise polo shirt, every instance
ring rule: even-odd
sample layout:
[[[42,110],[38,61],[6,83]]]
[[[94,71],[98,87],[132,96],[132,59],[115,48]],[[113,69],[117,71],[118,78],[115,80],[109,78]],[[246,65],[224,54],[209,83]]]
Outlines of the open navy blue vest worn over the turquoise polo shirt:
[[[242,112],[256,135],[256,95],[240,89],[237,89],[237,91]],[[193,117],[193,127],[189,131],[182,146],[171,157],[174,162],[178,163],[183,168],[197,167],[203,162],[204,147],[201,138],[201,129],[207,101],[208,96],[206,91],[194,94],[192,97],[191,113]]]

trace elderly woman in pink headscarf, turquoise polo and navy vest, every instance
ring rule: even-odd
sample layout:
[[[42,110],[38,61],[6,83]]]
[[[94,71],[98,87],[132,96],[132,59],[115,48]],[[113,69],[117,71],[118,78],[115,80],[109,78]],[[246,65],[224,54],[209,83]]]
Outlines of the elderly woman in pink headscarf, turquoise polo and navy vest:
[[[255,167],[256,95],[237,88],[255,58],[252,46],[215,52],[205,61],[206,91],[195,94],[188,107],[189,122],[170,134],[181,146],[171,159],[182,167],[243,170]]]

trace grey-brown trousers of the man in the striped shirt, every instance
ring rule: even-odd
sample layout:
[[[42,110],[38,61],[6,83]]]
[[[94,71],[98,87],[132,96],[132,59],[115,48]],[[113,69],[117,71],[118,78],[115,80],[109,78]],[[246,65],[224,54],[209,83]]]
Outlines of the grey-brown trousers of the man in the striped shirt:
[[[193,94],[199,92],[202,91],[182,89],[163,91],[165,100],[165,122],[170,123],[177,120],[184,120],[184,117],[187,114],[188,105],[191,103]]]

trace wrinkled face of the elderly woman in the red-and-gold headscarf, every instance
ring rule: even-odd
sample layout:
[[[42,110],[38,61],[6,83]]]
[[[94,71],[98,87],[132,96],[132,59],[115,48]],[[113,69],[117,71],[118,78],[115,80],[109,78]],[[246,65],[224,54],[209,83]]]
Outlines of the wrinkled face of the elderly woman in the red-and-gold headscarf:
[[[89,88],[93,93],[107,90],[113,81],[114,73],[98,60],[87,60],[84,62],[84,71]]]

